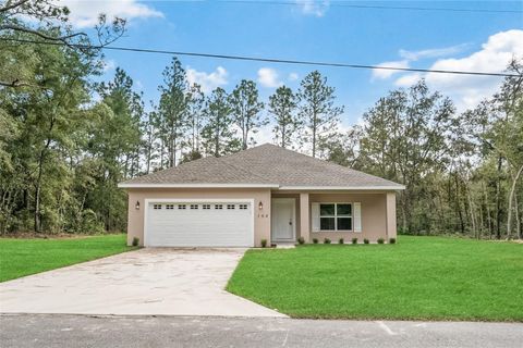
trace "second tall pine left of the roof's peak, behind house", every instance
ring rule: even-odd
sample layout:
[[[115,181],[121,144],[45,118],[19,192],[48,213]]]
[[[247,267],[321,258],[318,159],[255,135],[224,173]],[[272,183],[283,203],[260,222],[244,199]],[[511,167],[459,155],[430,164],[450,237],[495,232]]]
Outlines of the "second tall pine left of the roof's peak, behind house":
[[[241,140],[232,128],[234,121],[224,89],[218,87],[207,98],[204,116],[202,140],[206,153],[220,157],[241,148]]]

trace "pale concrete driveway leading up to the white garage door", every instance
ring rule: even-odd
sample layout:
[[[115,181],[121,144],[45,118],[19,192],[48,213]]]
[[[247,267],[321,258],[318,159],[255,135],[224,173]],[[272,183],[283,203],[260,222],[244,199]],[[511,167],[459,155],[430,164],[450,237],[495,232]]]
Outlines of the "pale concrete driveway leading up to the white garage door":
[[[0,312],[285,316],[224,290],[244,249],[146,248],[0,284]]]

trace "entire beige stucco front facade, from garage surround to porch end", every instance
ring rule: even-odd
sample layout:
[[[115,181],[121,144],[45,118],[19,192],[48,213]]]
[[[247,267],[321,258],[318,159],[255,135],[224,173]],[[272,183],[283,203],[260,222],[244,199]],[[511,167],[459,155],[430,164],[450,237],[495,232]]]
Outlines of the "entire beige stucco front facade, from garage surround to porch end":
[[[350,243],[357,237],[360,243],[364,238],[376,243],[378,238],[389,240],[397,236],[396,228],[396,192],[281,192],[268,188],[142,188],[129,189],[129,217],[127,217],[127,244],[134,237],[144,241],[144,211],[145,199],[254,199],[254,241],[260,246],[262,239],[270,243],[270,202],[271,198],[294,198],[296,200],[296,238],[303,236],[306,243],[318,238],[329,238],[338,243],[344,238]],[[136,201],[139,210],[135,209]],[[264,209],[259,210],[258,204]],[[362,232],[311,232],[311,203],[313,202],[361,202],[362,203]]]

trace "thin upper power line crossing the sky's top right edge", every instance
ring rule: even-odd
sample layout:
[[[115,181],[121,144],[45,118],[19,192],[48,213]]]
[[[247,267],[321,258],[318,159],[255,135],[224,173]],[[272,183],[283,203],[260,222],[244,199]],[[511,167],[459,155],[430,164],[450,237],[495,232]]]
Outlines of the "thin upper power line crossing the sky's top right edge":
[[[256,0],[219,0],[222,3],[240,3],[240,4],[272,4],[272,5],[303,5],[299,2],[291,1],[256,1]],[[321,5],[321,2],[312,4]],[[520,10],[489,10],[489,9],[459,9],[459,8],[423,8],[423,7],[397,7],[397,5],[378,5],[378,4],[357,4],[346,3],[344,1],[330,2],[329,7],[352,8],[352,9],[375,9],[375,10],[410,10],[410,11],[445,11],[445,12],[476,12],[476,13],[516,13],[522,14]]]

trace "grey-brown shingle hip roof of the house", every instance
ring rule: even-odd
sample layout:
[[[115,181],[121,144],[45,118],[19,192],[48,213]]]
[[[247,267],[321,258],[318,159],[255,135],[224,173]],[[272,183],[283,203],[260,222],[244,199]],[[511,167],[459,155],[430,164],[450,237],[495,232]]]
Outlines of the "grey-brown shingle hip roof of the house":
[[[402,189],[403,186],[336,163],[265,144],[221,158],[204,158],[139,176],[135,185],[260,185],[275,187],[332,187]]]

